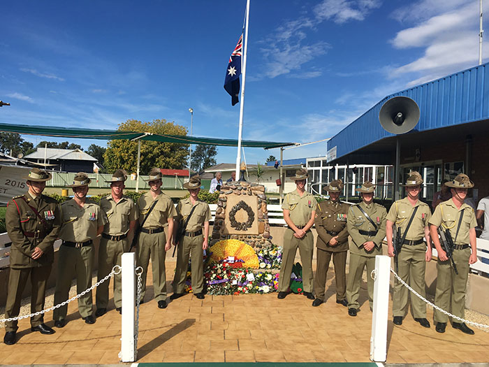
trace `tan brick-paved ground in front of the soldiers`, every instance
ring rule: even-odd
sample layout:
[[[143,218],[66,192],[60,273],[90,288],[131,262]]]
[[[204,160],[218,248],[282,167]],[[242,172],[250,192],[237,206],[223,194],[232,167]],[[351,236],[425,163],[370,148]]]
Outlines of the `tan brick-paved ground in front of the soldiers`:
[[[175,262],[167,261],[167,278]],[[328,279],[328,301],[318,308],[304,296],[277,294],[206,296],[189,294],[160,310],[152,299],[150,272],[146,303],[140,309],[140,362],[367,362],[372,314],[363,285],[357,317],[335,303]],[[112,287],[112,285],[111,285]],[[169,287],[171,290],[171,287]],[[171,293],[170,293],[171,294]],[[113,309],[87,325],[77,305],[68,308],[68,324],[52,336],[31,333],[20,322],[13,346],[0,345],[1,364],[117,364],[120,318]],[[448,326],[439,334],[408,315],[402,326],[389,317],[388,363],[462,363],[489,361],[489,334],[466,336]],[[428,309],[428,319],[432,310]],[[52,326],[52,314],[45,318]]]

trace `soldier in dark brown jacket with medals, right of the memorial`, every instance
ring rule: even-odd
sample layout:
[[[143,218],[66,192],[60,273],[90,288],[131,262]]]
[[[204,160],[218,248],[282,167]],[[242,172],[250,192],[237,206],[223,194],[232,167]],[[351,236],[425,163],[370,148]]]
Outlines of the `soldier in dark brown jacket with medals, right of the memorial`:
[[[319,203],[314,224],[318,233],[316,242],[316,278],[314,278],[314,293],[316,299],[313,306],[324,302],[326,275],[331,257],[335,265],[336,303],[348,305],[346,301],[346,252],[348,251],[348,229],[346,215],[350,207],[340,201],[343,181],[334,180],[325,187],[330,199]]]

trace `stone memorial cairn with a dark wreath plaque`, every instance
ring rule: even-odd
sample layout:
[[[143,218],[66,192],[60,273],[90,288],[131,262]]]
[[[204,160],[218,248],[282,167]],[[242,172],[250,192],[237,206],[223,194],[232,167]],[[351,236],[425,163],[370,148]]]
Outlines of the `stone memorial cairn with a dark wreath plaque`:
[[[246,181],[225,183],[217,202],[211,245],[242,240],[251,247],[272,247],[265,187]]]

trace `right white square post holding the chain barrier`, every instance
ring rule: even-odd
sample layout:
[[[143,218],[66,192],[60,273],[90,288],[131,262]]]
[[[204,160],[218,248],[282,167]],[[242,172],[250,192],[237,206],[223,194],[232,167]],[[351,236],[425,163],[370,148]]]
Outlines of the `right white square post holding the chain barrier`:
[[[375,273],[370,359],[374,362],[385,362],[387,359],[387,317],[389,311],[391,258],[377,255],[375,257]],[[367,277],[370,277],[370,274],[367,274]]]

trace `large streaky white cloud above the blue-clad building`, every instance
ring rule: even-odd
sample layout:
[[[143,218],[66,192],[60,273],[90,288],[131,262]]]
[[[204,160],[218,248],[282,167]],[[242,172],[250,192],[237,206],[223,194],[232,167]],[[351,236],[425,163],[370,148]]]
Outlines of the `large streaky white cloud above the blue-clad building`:
[[[485,4],[485,9],[489,5]],[[391,41],[394,48],[424,49],[421,56],[407,64],[393,67],[391,78],[409,76],[407,87],[477,64],[479,59],[479,1],[423,0],[393,13],[400,19],[408,12],[413,25],[397,32]],[[406,13],[407,14],[407,13]]]

